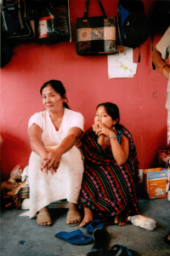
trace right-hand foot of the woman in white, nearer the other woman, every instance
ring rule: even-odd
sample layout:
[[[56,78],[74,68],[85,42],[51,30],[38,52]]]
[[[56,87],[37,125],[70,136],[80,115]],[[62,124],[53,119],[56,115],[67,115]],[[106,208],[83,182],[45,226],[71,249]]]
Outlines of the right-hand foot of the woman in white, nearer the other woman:
[[[69,211],[67,212],[66,224],[76,224],[81,222],[80,212],[77,211],[77,206],[74,203],[69,203]]]

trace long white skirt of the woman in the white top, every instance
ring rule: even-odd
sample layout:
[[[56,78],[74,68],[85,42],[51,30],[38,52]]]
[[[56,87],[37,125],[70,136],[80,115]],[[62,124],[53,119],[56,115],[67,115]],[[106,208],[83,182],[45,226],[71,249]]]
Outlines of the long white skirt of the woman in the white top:
[[[50,172],[48,175],[42,172],[40,164],[40,156],[31,152],[28,166],[30,218],[36,217],[39,210],[54,201],[66,199],[77,204],[82,185],[82,154],[77,147],[74,146],[62,155],[54,176]]]

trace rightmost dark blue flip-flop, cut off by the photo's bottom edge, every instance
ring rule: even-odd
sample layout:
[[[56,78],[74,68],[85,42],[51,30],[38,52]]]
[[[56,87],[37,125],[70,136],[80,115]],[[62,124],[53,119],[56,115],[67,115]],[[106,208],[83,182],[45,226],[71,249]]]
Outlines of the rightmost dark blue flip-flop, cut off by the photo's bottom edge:
[[[122,245],[114,245],[111,247],[111,255],[112,256],[138,256],[139,254],[133,250],[127,249],[127,247],[123,247]]]

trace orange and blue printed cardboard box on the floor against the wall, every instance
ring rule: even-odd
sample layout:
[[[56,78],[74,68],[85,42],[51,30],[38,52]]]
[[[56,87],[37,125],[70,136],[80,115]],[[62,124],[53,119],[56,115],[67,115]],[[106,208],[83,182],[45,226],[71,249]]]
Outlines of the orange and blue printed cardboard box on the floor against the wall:
[[[143,169],[144,172],[144,187],[149,196],[149,199],[167,197],[167,169],[152,168]]]

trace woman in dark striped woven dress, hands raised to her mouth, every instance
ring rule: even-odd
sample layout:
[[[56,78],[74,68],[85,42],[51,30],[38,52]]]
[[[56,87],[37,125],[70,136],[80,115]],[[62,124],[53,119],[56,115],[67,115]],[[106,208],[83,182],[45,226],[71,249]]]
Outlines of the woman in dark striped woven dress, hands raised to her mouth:
[[[114,218],[127,224],[129,215],[139,214],[135,186],[139,161],[133,137],[119,124],[119,109],[111,102],[97,106],[94,125],[82,137],[84,173],[79,201],[84,207],[80,226],[94,219]]]

